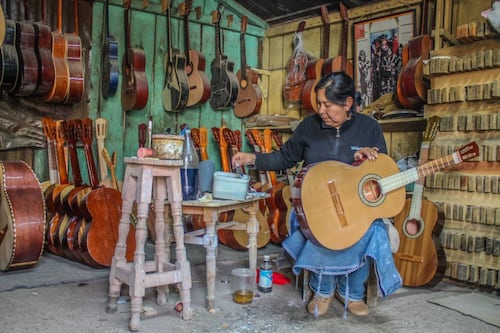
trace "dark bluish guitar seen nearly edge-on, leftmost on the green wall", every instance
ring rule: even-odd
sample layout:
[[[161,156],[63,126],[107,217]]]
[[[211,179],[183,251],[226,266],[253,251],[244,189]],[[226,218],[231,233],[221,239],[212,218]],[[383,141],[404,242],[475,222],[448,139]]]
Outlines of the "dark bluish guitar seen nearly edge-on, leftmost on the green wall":
[[[119,78],[118,41],[109,33],[109,0],[104,2],[103,17],[101,93],[102,97],[108,98],[116,94]]]

